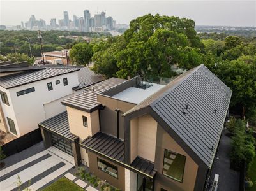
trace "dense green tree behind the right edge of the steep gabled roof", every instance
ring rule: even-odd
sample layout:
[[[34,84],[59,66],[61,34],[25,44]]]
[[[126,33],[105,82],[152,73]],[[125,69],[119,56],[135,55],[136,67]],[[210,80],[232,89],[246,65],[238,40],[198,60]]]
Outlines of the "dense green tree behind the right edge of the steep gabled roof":
[[[207,64],[207,67],[215,73],[232,90],[230,106],[240,111],[241,116],[250,117],[250,113],[256,108],[256,67],[255,63],[246,63],[243,57],[232,61]]]

